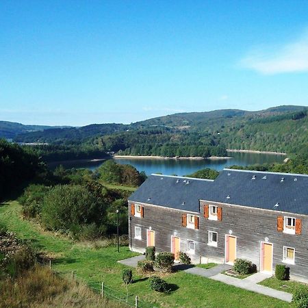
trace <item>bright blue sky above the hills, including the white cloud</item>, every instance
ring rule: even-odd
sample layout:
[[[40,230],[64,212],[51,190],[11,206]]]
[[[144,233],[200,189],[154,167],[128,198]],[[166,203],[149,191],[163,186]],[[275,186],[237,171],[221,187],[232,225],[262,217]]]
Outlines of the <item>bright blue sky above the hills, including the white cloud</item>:
[[[308,1],[0,2],[0,120],[308,105]]]

